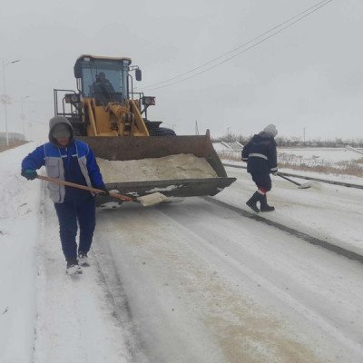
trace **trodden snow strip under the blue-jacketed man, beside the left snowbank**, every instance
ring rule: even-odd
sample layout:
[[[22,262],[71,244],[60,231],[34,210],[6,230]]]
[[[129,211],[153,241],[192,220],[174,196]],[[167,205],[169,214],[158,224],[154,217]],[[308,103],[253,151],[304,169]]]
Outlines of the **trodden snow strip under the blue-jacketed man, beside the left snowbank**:
[[[41,212],[34,362],[129,362],[129,333],[114,319],[99,267],[66,275],[54,207],[44,198]]]

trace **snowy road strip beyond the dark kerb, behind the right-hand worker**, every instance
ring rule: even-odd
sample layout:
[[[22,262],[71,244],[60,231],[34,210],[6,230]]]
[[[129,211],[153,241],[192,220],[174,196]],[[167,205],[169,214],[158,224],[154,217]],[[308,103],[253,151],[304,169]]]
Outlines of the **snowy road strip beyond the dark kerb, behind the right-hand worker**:
[[[243,169],[226,170],[237,181],[215,198],[249,211],[244,202],[256,189],[250,174]],[[299,189],[272,176],[268,198],[276,211],[263,213],[263,217],[363,255],[363,191],[319,182],[312,185],[310,189]]]

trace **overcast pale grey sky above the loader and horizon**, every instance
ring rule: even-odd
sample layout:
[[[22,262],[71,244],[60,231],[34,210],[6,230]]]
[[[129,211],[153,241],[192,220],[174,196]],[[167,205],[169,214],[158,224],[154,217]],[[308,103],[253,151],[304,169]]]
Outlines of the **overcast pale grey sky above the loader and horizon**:
[[[22,97],[32,136],[46,132],[53,89],[75,89],[80,54],[129,56],[142,85],[161,82],[229,52],[318,0],[3,0],[1,59],[9,131],[21,132]],[[335,0],[230,62],[156,96],[151,119],[180,134],[250,134],[275,123],[280,135],[363,137],[363,1]],[[0,93],[3,93],[1,87]],[[3,107],[0,130],[5,130]],[[29,131],[28,131],[29,132]]]

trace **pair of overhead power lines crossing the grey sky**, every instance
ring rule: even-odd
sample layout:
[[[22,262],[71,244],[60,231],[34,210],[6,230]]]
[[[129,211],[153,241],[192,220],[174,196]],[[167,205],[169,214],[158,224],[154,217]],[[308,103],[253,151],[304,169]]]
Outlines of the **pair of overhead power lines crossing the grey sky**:
[[[193,77],[195,77],[195,76],[197,76],[197,75],[199,75],[199,74],[203,74],[203,73],[205,73],[205,72],[207,72],[207,71],[210,71],[211,69],[213,69],[213,68],[217,67],[218,65],[221,65],[221,64],[224,64],[224,63],[226,63],[226,62],[230,61],[232,58],[235,58],[236,56],[238,56],[238,55],[240,55],[240,54],[246,53],[246,52],[247,52],[247,51],[249,51],[251,48],[254,48],[255,46],[257,46],[257,45],[259,45],[259,44],[261,44],[261,43],[263,43],[263,42],[267,41],[268,39],[270,39],[270,37],[272,37],[272,36],[274,36],[274,35],[276,35],[276,34],[280,34],[280,33],[281,33],[282,31],[284,31],[285,29],[289,28],[289,27],[290,27],[290,26],[292,26],[292,25],[295,25],[296,23],[298,23],[299,21],[301,21],[301,20],[302,20],[302,19],[304,19],[305,17],[307,17],[307,16],[309,16],[309,15],[311,15],[311,14],[315,13],[315,12],[316,12],[316,11],[318,11],[321,7],[323,7],[323,6],[325,6],[325,5],[328,5],[328,4],[329,4],[329,3],[331,3],[332,1],[333,1],[333,0],[323,0],[323,1],[320,1],[320,2],[319,2],[319,3],[317,3],[316,5],[310,6],[310,7],[309,7],[309,9],[306,9],[306,10],[304,10],[303,12],[299,13],[299,15],[292,16],[291,18],[289,18],[289,20],[286,20],[286,21],[284,21],[284,22],[280,23],[279,25],[275,25],[275,26],[273,26],[270,30],[268,30],[268,31],[266,31],[266,32],[264,32],[264,33],[262,33],[262,34],[260,34],[259,36],[256,36],[255,38],[251,39],[249,42],[247,42],[247,43],[245,43],[245,44],[241,44],[240,46],[238,46],[237,48],[234,48],[233,50],[231,50],[231,51],[230,51],[230,52],[228,52],[228,53],[222,54],[222,55],[220,55],[219,57],[214,58],[214,59],[212,59],[211,61],[209,61],[209,62],[207,62],[207,63],[205,63],[205,64],[201,64],[200,66],[195,67],[195,68],[191,69],[191,70],[190,70],[190,71],[188,71],[188,72],[184,72],[184,73],[182,73],[182,74],[175,75],[175,76],[173,76],[172,78],[169,78],[169,79],[167,79],[167,80],[165,80],[165,81],[162,81],[162,82],[159,82],[159,83],[152,83],[152,84],[150,84],[150,85],[148,85],[148,86],[146,86],[146,87],[143,87],[143,88],[150,88],[150,89],[152,89],[152,90],[158,90],[158,89],[161,89],[161,88],[164,88],[164,87],[169,87],[169,86],[171,86],[171,85],[173,85],[173,84],[176,84],[176,83],[181,83],[181,82],[187,81],[187,80],[189,80],[189,79],[191,79],[191,78],[193,78]],[[297,20],[295,20],[295,21],[292,21],[293,19],[296,19],[296,18],[298,18],[298,19],[297,19]],[[291,21],[292,21],[292,22],[291,22]],[[288,23],[289,23],[289,24],[288,24]],[[288,24],[288,25],[283,26],[283,27],[281,28],[281,25],[285,25],[285,24]],[[275,29],[277,29],[277,28],[280,28],[280,29],[279,29],[278,31],[276,31],[276,32],[271,33],[273,30],[275,30]],[[270,33],[271,33],[271,34],[270,34]],[[264,36],[264,35],[266,35],[266,34],[269,34],[269,35],[268,35],[268,36],[263,37],[263,36]],[[226,55],[231,54],[231,53],[234,53],[236,50],[239,50],[240,48],[242,48],[242,47],[244,47],[244,46],[246,46],[246,45],[248,45],[248,44],[251,44],[251,43],[255,42],[256,40],[260,39],[261,37],[263,37],[263,38],[262,38],[259,42],[257,42],[257,43],[254,43],[254,44],[250,45],[249,47],[247,47],[246,49],[242,50],[241,52],[239,52],[239,53],[237,53],[237,54],[233,54],[233,55],[231,55],[230,57],[228,57],[228,58],[224,59],[223,61],[221,61],[221,62],[219,62],[219,63],[217,63],[217,64],[213,64],[211,67],[207,67],[207,68],[203,69],[202,71],[200,71],[200,72],[198,72],[198,73],[196,73],[196,74],[191,74],[192,72],[194,72],[194,71],[196,71],[196,70],[198,70],[198,69],[203,68],[205,65],[212,64],[212,63],[214,63],[215,61],[217,61],[217,60],[219,60],[219,59],[221,59],[221,58],[224,58]],[[172,81],[173,79],[180,78],[180,77],[182,77],[183,75],[186,75],[186,74],[191,74],[191,75],[190,75],[189,77],[182,78],[182,80],[179,80],[179,81],[176,81],[176,82],[172,82],[172,83],[168,83],[168,84],[162,85],[162,86],[160,86],[160,87],[152,87],[152,85],[157,85],[157,84],[167,83],[167,82],[169,82],[169,81]],[[152,87],[152,88],[151,88],[151,87]]]

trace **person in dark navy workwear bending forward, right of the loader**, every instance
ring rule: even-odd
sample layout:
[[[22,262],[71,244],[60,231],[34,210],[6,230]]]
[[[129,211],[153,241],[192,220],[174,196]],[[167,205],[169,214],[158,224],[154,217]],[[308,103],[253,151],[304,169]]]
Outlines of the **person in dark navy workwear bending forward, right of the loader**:
[[[242,150],[242,161],[247,162],[247,172],[250,172],[257,191],[246,204],[256,212],[274,211],[275,208],[267,202],[266,193],[271,190],[270,173],[277,175],[278,162],[275,136],[276,126],[270,124],[262,132],[254,135]],[[260,201],[260,210],[257,202]]]

